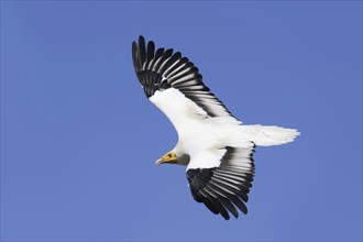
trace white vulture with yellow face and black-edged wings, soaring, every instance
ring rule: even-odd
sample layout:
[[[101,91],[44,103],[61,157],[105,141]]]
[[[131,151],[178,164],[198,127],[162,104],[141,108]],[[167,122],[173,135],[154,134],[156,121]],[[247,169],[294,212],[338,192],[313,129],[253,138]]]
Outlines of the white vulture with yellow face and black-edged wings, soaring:
[[[292,142],[299,132],[243,124],[204,84],[198,68],[173,48],[155,50],[153,41],[146,45],[140,36],[132,43],[132,58],[146,97],[178,134],[175,147],[155,164],[185,165],[194,199],[226,220],[230,213],[238,218],[238,209],[248,213],[254,148]]]

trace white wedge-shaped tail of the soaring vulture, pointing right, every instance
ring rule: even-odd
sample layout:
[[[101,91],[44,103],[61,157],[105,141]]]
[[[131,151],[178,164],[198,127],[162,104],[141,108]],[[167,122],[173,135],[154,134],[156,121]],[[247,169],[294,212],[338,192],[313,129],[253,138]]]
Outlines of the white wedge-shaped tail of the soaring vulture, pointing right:
[[[242,125],[256,145],[271,146],[286,144],[300,134],[297,130],[282,127]]]

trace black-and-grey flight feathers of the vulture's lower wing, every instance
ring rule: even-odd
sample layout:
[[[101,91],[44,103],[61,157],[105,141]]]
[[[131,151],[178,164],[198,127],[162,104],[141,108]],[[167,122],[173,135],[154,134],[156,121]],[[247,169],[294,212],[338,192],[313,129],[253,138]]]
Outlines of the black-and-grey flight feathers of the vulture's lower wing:
[[[244,202],[249,200],[248,194],[254,175],[254,146],[227,146],[223,150],[226,152],[219,167],[188,168],[187,179],[194,199],[228,220],[228,211],[235,218],[239,217],[237,208],[248,213]]]

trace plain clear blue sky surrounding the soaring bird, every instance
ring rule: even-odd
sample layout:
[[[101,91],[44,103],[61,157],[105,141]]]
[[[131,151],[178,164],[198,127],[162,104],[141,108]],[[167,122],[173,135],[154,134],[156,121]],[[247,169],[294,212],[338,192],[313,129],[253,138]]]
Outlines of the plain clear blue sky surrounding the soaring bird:
[[[249,215],[190,196],[131,42],[173,47],[257,147]],[[362,240],[361,1],[1,1],[1,240]]]

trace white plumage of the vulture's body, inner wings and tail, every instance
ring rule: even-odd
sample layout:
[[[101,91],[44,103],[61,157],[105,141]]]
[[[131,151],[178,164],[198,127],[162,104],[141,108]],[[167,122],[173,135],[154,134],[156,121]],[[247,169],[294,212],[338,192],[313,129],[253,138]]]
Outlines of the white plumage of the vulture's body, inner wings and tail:
[[[189,168],[210,168],[220,165],[224,146],[250,148],[288,143],[298,134],[296,130],[279,127],[242,125],[232,117],[210,118],[195,102],[177,89],[155,91],[150,98],[170,120],[178,133],[173,148],[177,155],[188,151]],[[252,142],[252,143],[251,143]],[[185,165],[185,164],[184,164]]]

